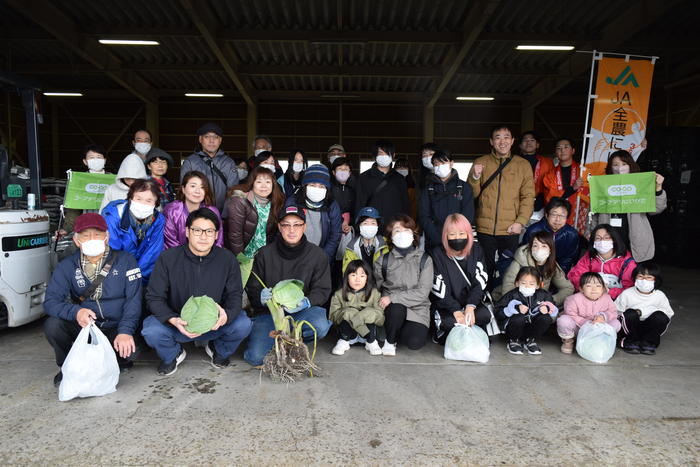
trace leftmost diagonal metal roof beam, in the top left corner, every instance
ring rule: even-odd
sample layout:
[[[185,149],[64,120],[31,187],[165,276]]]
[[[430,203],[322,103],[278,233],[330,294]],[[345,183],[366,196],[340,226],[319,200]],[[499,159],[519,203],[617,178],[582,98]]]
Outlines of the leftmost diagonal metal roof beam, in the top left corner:
[[[73,21],[48,0],[7,0],[17,12],[46,29],[83,59],[102,70],[144,102],[158,102],[158,94],[150,84],[132,70],[122,67],[116,55],[96,40],[86,37]]]

